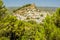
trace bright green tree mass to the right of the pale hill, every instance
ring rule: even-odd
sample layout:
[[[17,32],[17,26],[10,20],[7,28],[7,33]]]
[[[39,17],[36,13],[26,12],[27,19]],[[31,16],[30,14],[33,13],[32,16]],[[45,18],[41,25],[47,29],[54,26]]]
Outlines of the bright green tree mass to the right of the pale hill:
[[[47,15],[44,21],[46,40],[60,40],[60,9],[52,16]]]

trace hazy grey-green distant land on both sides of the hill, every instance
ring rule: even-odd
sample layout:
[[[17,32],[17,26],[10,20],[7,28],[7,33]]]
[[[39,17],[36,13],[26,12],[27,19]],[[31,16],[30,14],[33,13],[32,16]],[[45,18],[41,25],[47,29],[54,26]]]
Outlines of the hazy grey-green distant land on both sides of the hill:
[[[13,11],[16,10],[20,7],[8,7],[8,10]],[[57,7],[37,7],[37,9],[39,10],[44,10],[44,11],[55,11],[57,9]]]

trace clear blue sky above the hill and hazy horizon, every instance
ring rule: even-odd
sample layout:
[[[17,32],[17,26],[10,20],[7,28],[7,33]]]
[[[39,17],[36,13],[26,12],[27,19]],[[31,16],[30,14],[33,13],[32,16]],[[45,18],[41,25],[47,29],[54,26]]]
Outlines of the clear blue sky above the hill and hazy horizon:
[[[60,0],[3,0],[3,2],[6,7],[18,7],[30,3],[40,7],[60,7]]]

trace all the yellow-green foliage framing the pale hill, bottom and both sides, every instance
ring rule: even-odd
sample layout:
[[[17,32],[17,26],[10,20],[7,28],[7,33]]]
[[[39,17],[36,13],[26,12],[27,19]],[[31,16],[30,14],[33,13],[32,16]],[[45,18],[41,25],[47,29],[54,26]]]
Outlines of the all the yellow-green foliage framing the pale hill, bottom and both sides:
[[[17,20],[0,0],[0,40],[60,40],[60,8],[41,25]]]

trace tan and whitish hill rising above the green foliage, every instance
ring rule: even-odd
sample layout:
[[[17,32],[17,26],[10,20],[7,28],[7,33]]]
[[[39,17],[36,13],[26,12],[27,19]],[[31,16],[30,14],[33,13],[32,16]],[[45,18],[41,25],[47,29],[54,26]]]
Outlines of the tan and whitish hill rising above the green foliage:
[[[48,12],[37,10],[34,4],[25,5],[14,11],[14,16],[17,16],[18,20],[33,20],[38,23],[42,22],[47,14]]]

